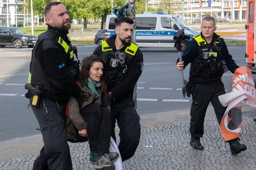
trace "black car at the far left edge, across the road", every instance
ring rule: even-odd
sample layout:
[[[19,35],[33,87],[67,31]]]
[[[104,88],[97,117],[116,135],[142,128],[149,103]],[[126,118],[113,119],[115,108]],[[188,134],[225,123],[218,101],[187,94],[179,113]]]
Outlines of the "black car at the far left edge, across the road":
[[[16,49],[20,49],[23,45],[33,48],[37,37],[33,35],[25,35],[17,27],[0,27],[0,47],[6,45],[14,45]]]

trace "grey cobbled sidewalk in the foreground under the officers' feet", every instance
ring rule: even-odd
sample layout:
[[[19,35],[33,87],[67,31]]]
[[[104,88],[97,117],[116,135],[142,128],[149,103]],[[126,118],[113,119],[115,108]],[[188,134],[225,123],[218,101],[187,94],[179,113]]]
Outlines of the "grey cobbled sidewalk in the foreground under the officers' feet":
[[[124,169],[256,169],[256,109],[243,106],[243,134],[248,149],[231,155],[221,137],[212,107],[207,110],[205,150],[189,145],[189,109],[141,116],[141,140]],[[0,143],[0,169],[31,169],[42,147],[41,135]],[[74,169],[93,169],[88,162],[88,143],[70,143]]]

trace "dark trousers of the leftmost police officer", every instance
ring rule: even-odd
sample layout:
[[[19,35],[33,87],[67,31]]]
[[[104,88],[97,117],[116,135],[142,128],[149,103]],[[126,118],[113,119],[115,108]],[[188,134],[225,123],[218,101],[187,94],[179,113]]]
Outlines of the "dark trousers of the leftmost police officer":
[[[65,130],[65,102],[42,100],[39,107],[32,107],[32,110],[44,141],[33,169],[72,169]]]

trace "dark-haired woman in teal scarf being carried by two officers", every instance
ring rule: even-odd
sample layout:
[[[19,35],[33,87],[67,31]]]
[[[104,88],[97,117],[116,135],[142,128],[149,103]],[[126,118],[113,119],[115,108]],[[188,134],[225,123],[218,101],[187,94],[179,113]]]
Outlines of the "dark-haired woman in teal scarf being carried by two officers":
[[[80,77],[82,98],[79,104],[74,97],[68,100],[69,118],[79,135],[83,137],[87,135],[90,162],[95,164],[95,168],[115,169],[113,162],[119,155],[116,152],[109,152],[111,112],[107,107],[102,107],[101,102],[101,95],[106,93],[102,59],[95,55],[84,58]]]

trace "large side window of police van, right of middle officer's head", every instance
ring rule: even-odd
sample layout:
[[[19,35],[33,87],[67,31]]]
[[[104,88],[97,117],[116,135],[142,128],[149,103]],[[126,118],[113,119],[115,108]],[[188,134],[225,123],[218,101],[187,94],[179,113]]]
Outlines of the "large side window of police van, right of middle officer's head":
[[[156,17],[137,17],[136,29],[156,29]]]

